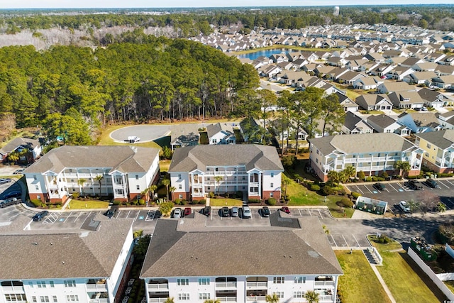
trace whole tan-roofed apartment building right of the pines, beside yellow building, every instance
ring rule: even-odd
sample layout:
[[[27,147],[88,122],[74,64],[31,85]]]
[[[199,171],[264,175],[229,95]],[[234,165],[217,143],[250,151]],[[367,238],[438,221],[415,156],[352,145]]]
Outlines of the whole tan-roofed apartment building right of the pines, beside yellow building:
[[[397,160],[411,165],[409,175],[419,175],[423,150],[396,133],[367,133],[309,139],[309,164],[323,181],[328,172],[353,166],[365,175],[398,174]]]

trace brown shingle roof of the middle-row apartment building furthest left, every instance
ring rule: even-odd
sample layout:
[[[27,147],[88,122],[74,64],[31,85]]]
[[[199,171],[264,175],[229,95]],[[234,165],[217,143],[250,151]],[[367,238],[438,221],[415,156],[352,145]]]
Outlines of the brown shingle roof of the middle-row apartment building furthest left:
[[[135,146],[70,146],[54,148],[25,173],[61,172],[65,167],[112,167],[111,171],[148,172],[159,154],[157,148]]]

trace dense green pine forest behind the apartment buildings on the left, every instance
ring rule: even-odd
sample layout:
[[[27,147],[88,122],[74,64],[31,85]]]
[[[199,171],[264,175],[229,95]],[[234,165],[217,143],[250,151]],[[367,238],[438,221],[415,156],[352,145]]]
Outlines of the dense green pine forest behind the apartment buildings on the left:
[[[16,126],[44,126],[50,138],[87,144],[109,121],[172,121],[240,116],[259,79],[214,48],[143,35],[109,48],[0,48],[0,115]],[[260,111],[260,109],[259,109]]]

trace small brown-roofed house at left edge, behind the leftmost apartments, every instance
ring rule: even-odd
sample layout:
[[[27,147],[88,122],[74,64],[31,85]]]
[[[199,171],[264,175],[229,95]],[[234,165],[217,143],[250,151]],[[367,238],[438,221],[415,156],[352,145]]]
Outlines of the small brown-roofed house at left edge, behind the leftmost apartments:
[[[31,138],[15,138],[0,148],[0,162],[7,160],[11,153],[18,153],[18,161],[31,163],[40,157],[42,148],[40,142]]]

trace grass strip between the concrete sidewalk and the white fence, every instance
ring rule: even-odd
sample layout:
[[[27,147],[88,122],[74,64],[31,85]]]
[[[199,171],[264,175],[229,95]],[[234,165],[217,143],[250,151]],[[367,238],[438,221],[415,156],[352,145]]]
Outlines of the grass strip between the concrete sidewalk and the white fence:
[[[423,278],[413,270],[412,267],[417,268],[417,265],[406,254],[406,251],[392,251],[402,248],[399,243],[395,241],[389,244],[371,242],[383,258],[383,265],[377,266],[377,269],[397,303],[439,302]]]

